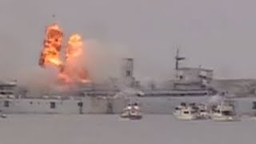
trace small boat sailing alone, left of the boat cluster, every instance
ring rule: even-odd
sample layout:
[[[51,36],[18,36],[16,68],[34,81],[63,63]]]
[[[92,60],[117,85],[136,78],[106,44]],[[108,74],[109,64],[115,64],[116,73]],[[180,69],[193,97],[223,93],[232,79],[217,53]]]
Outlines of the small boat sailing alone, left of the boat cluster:
[[[138,120],[142,118],[142,113],[140,107],[137,103],[133,105],[128,105],[124,110],[122,110],[121,118],[128,118],[131,120]]]

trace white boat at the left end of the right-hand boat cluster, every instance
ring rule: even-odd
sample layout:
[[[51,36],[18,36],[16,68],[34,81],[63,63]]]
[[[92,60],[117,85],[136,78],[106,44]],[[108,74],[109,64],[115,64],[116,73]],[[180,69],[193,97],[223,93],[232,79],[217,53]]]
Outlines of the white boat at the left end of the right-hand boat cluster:
[[[185,102],[182,102],[179,106],[175,107],[174,116],[182,120],[200,119],[198,107],[194,106],[194,103],[187,105]]]

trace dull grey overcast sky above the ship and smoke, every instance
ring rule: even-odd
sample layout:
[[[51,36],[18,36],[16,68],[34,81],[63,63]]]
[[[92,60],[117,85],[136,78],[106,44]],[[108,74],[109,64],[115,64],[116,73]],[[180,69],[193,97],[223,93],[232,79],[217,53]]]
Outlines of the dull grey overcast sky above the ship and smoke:
[[[254,0],[1,0],[2,75],[38,68],[52,14],[66,34],[128,51],[138,78],[170,77],[177,46],[184,66],[213,69],[215,78],[256,78]]]

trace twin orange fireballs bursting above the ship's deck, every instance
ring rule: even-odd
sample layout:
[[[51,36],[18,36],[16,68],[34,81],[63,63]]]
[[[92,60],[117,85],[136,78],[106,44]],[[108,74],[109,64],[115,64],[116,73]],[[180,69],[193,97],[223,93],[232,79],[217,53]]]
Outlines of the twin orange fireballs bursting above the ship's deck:
[[[89,74],[81,63],[84,56],[82,37],[79,34],[70,36],[64,51],[65,58],[61,58],[62,39],[63,32],[57,24],[46,27],[46,38],[43,42],[39,66],[57,67],[58,80],[64,83],[90,82]]]

